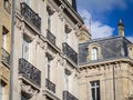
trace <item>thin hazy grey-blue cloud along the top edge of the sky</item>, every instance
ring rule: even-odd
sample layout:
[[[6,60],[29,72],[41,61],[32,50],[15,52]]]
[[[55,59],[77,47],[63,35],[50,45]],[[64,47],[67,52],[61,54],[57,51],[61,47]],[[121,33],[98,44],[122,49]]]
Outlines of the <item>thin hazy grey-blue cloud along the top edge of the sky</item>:
[[[84,6],[89,11],[105,12],[113,9],[126,9],[126,0],[78,0],[78,4]]]

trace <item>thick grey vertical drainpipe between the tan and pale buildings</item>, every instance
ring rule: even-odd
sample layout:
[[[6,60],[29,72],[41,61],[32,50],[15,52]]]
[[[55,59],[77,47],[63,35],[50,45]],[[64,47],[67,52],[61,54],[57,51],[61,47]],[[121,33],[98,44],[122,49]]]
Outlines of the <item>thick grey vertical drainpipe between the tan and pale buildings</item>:
[[[9,100],[13,99],[13,51],[14,51],[14,16],[16,16],[16,0],[12,0],[11,8],[11,57],[10,57],[10,90],[9,90]]]

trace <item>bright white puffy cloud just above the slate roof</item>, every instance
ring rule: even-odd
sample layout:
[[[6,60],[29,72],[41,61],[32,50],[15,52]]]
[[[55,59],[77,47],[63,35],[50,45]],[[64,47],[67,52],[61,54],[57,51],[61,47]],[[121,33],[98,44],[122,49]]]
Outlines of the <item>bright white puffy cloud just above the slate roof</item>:
[[[100,21],[92,20],[92,14],[88,12],[85,9],[80,9],[80,14],[84,19],[84,22],[92,34],[92,39],[113,36],[114,31],[113,28],[103,24]]]

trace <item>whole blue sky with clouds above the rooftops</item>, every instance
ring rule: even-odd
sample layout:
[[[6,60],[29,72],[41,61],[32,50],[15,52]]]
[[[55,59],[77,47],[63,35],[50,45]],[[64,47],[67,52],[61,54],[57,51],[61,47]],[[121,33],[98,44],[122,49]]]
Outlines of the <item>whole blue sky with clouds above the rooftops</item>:
[[[76,0],[76,4],[93,39],[117,36],[121,18],[125,37],[133,42],[133,0]]]

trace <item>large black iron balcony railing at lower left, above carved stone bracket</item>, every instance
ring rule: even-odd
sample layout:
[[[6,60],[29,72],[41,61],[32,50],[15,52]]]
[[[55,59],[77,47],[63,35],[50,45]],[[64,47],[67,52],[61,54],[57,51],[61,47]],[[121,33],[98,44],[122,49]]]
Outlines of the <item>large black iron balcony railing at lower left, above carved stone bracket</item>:
[[[19,73],[37,86],[41,86],[41,71],[25,59],[19,59]]]

